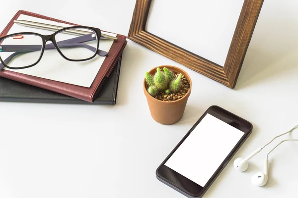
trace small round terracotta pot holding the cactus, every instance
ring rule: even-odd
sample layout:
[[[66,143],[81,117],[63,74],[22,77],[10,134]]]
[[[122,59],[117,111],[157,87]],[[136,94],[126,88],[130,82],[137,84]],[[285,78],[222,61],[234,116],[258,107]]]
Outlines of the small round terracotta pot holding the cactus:
[[[149,93],[147,92],[147,83],[144,79],[144,85],[143,85],[144,93],[147,98],[147,102],[149,105],[152,118],[156,122],[159,122],[161,124],[170,125],[178,122],[182,118],[188,97],[190,96],[190,93],[191,93],[192,83],[189,75],[184,70],[170,65],[162,65],[162,66],[159,66],[161,71],[163,67],[166,67],[174,72],[181,73],[188,80],[190,85],[189,91],[181,99],[178,99],[175,101],[161,101],[149,95]],[[149,74],[154,75],[156,72],[156,68],[157,67],[151,69],[149,71]]]

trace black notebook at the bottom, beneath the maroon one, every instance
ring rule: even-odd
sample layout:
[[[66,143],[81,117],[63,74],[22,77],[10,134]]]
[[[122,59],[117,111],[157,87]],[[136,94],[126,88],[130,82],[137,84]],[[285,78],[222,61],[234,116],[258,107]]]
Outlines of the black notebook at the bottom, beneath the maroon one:
[[[112,73],[98,88],[94,102],[65,96],[31,85],[19,83],[0,77],[0,101],[14,102],[44,102],[44,103],[73,103],[73,104],[116,104],[118,81],[120,75],[122,54]]]

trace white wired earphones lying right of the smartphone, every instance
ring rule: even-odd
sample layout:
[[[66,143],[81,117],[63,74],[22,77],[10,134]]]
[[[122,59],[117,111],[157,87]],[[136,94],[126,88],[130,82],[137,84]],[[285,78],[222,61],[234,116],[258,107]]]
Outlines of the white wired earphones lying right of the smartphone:
[[[298,125],[296,125],[294,128],[292,128],[290,131],[283,133],[279,136],[276,136],[275,138],[273,138],[269,143],[267,143],[266,145],[256,149],[254,152],[252,152],[250,155],[248,155],[245,158],[239,157],[237,159],[235,159],[233,166],[234,168],[239,171],[239,172],[243,172],[248,168],[248,160],[250,158],[252,158],[253,156],[255,156],[257,153],[259,153],[263,148],[265,148],[267,145],[269,145],[270,143],[272,143],[276,138],[281,137],[283,135],[286,135],[287,133],[292,132],[294,129],[298,128]],[[286,141],[298,141],[296,139],[287,139],[287,140],[283,140],[281,141],[278,145],[276,145],[272,150],[270,150],[267,153],[266,159],[264,160],[264,172],[259,172],[256,173],[252,176],[251,178],[251,183],[256,185],[256,186],[264,186],[267,181],[268,181],[268,168],[269,168],[269,160],[268,160],[268,155],[275,149],[277,148],[280,144],[282,144],[283,142]]]

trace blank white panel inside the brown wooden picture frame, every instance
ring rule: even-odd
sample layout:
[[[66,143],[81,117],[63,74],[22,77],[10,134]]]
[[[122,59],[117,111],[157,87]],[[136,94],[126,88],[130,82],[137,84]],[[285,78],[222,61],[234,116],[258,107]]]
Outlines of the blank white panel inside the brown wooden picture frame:
[[[224,66],[244,0],[173,2],[152,0],[146,30]]]

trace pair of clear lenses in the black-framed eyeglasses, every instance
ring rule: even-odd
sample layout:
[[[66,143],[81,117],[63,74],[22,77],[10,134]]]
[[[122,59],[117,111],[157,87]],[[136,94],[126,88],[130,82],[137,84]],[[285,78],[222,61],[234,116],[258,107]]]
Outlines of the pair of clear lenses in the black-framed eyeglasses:
[[[43,41],[38,35],[23,34],[11,36],[0,41],[0,57],[11,68],[27,67],[35,64],[42,52]],[[71,60],[84,60],[93,57],[98,46],[98,38],[93,30],[72,28],[59,32],[55,36],[56,44],[61,53]],[[45,50],[55,49],[54,45],[46,44]]]

